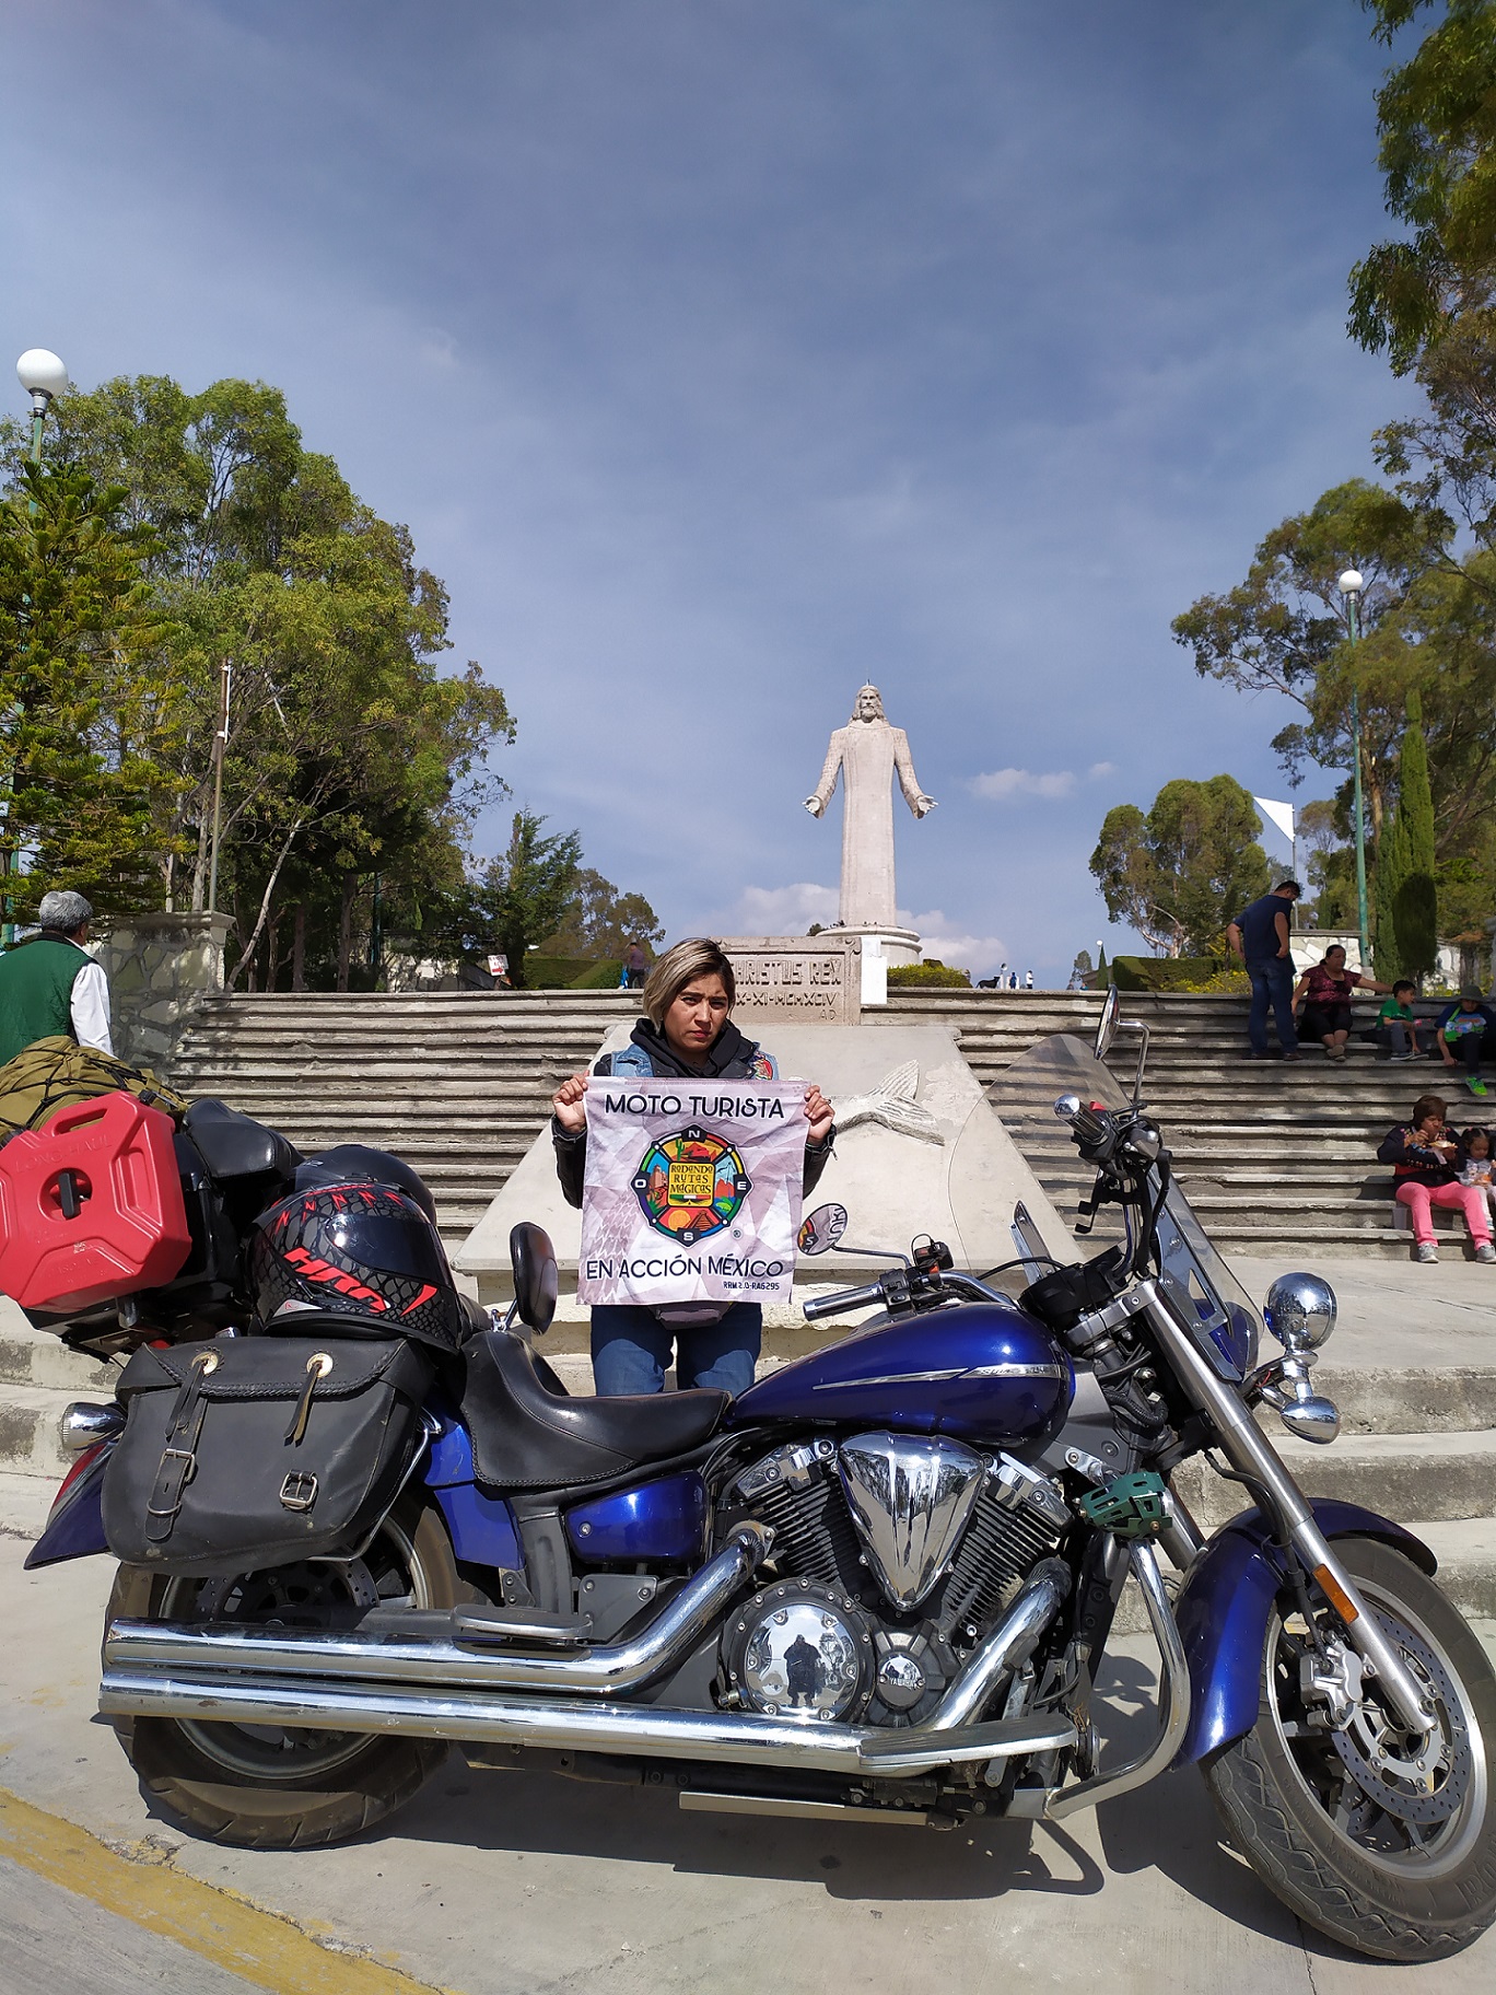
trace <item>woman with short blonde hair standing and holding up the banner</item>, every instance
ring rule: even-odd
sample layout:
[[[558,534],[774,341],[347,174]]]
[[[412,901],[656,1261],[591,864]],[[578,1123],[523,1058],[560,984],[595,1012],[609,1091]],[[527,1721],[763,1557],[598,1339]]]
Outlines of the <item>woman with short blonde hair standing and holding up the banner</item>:
[[[732,1023],[736,982],[716,942],[678,942],[644,982],[644,1017],[596,1075],[774,1081],[778,1067]],[[551,1097],[557,1175],[568,1205],[582,1203],[586,1175],[586,1075],[572,1073]],[[832,1105],[806,1085],[806,1173],[810,1193],[836,1139]],[[660,1393],[674,1347],[682,1389],[746,1393],[764,1335],[758,1303],[598,1305],[592,1309],[592,1381],[598,1393]]]

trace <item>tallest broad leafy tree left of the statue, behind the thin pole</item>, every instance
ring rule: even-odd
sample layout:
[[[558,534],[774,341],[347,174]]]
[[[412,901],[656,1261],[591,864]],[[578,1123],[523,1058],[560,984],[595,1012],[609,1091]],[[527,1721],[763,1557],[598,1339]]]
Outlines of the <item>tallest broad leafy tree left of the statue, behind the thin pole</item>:
[[[303,449],[277,389],[189,395],[146,375],[58,397],[50,423],[50,463],[108,481],[150,587],[154,642],[102,696],[98,730],[110,768],[150,770],[136,844],[154,846],[158,904],[205,906],[227,662],[233,974],[273,986],[289,958],[293,984],[325,970],[345,988],[375,892],[419,932],[461,882],[463,832],[503,794],[489,764],[515,736],[503,692],[477,664],[437,670],[441,581]],[[20,479],[18,425],[0,425],[0,447]]]

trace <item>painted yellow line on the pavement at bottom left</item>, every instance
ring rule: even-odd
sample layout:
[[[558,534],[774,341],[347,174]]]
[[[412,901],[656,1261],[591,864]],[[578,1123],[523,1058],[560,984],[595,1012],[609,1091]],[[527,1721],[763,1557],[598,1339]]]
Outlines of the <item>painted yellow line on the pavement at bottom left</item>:
[[[162,1933],[275,1995],[433,1995],[399,1967],[333,1953],[299,1925],[168,1865],[132,1863],[98,1835],[0,1788],[0,1857]]]

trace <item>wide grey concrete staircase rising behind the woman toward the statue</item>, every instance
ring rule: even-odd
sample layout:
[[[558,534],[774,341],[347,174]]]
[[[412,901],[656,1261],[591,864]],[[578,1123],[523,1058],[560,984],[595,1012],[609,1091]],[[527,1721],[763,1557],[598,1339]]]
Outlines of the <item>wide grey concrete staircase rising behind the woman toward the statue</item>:
[[[902,992],[866,1021],[951,1025],[977,1077],[993,1081],[1051,1031],[1089,1037],[1097,1005],[1065,992]],[[443,1233],[457,1241],[545,1123],[557,1079],[632,1007],[624,992],[221,998],[199,1013],[174,1079],[283,1129],[303,1151],[397,1149],[431,1183]],[[1147,1099],[1223,1249],[1406,1257],[1376,1141],[1428,1087],[1448,1093],[1452,1115],[1480,1119],[1462,1081],[1434,1063],[1388,1065],[1358,1041],[1344,1067],[1318,1051],[1289,1067],[1247,1061],[1241,998],[1129,998],[1125,1011],[1153,1033]],[[1131,1043],[1121,1041],[1119,1073]],[[1045,1109],[1015,1133],[1073,1209],[1085,1173],[1065,1131]]]

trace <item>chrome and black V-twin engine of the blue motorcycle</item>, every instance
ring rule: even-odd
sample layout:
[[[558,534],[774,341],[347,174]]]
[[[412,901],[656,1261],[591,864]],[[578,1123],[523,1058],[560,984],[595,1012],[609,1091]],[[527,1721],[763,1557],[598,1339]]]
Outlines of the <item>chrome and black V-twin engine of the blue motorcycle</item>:
[[[924,1724],[1071,1522],[1013,1456],[886,1432],[774,1448],[726,1502],[774,1528],[776,1582],[724,1628],[724,1702],[810,1724]]]

